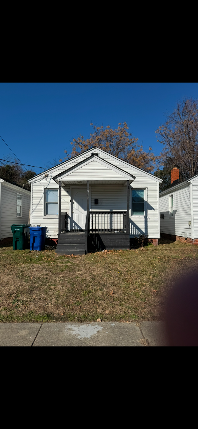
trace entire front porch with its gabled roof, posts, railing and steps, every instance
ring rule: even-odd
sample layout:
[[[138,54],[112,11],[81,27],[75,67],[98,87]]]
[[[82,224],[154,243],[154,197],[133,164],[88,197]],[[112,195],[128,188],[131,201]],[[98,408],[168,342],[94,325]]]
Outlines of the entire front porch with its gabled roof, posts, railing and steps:
[[[53,179],[59,186],[57,253],[129,249],[133,175],[92,153]],[[62,187],[68,186],[70,212],[61,213]]]

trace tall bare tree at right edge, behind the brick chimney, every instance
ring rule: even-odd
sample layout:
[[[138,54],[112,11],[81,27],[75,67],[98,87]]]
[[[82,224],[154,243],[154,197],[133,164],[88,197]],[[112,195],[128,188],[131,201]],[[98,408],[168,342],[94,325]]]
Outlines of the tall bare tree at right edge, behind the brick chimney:
[[[158,165],[177,166],[181,178],[198,173],[198,100],[183,97],[155,133],[164,145]]]

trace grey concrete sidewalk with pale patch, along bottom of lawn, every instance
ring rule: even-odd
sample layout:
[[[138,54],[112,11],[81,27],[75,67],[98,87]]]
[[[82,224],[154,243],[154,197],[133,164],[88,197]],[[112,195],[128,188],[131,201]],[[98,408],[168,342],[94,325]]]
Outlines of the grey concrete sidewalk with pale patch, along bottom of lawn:
[[[164,347],[163,322],[0,323],[1,347]]]

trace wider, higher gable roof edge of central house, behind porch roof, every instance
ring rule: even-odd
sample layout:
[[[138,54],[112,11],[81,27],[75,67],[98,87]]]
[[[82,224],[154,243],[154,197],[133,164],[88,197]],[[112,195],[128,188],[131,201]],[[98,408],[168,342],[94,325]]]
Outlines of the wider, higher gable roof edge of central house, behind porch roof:
[[[151,173],[146,172],[146,171],[144,171],[144,170],[142,170],[142,169],[140,169],[140,168],[138,168],[138,167],[135,167],[135,166],[133,166],[132,164],[128,163],[127,161],[124,161],[124,160],[122,160],[121,158],[116,157],[115,155],[112,155],[112,154],[110,154],[109,152],[104,151],[103,149],[100,149],[100,148],[97,148],[96,146],[93,146],[92,148],[88,149],[87,151],[81,152],[80,154],[78,154],[78,155],[76,155],[76,156],[74,156],[74,157],[70,158],[69,160],[64,161],[64,162],[62,162],[62,163],[58,164],[57,166],[51,167],[51,168],[49,168],[49,169],[47,169],[47,170],[43,171],[42,173],[37,174],[36,176],[34,176],[34,178],[29,179],[29,180],[28,180],[28,182],[29,182],[29,183],[34,182],[34,179],[37,179],[38,177],[42,177],[42,176],[43,176],[43,174],[45,174],[46,172],[51,172],[51,171],[54,171],[54,172],[55,172],[56,170],[58,171],[58,169],[60,169],[60,168],[62,169],[63,165],[67,166],[67,164],[69,164],[69,163],[73,162],[73,160],[75,160],[76,158],[78,158],[78,157],[82,157],[83,155],[85,155],[85,154],[87,154],[88,152],[93,151],[93,150],[97,150],[97,152],[99,152],[99,153],[101,153],[101,154],[106,154],[106,155],[108,155],[109,157],[112,157],[113,159],[116,159],[117,161],[119,161],[119,163],[122,163],[122,164],[123,164],[123,171],[125,171],[125,169],[124,169],[124,166],[125,166],[125,165],[126,165],[126,166],[131,166],[131,168],[132,168],[132,169],[137,170],[137,172],[141,172],[141,174],[142,174],[142,175],[144,175],[144,176],[149,176],[153,181],[158,181],[158,182],[160,182],[160,183],[163,181],[162,179],[160,179],[160,178],[158,178],[158,177],[156,177],[156,176],[152,175]],[[117,168],[119,168],[119,167],[117,167]],[[66,170],[65,170],[65,171],[66,171]]]

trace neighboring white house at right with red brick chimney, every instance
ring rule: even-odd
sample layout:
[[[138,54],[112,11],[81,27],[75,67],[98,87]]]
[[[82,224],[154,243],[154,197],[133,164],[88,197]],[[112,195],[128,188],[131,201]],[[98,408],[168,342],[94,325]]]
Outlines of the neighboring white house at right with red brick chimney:
[[[173,181],[175,173],[178,179]],[[172,186],[159,194],[161,235],[198,244],[198,175],[178,180],[179,169],[174,168]]]

